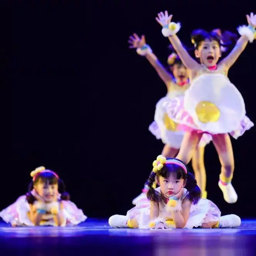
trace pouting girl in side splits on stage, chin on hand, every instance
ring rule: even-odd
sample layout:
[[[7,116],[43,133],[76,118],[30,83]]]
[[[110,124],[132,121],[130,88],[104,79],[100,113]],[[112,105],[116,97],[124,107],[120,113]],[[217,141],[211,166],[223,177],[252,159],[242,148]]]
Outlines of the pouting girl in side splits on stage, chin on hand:
[[[187,166],[178,159],[158,156],[148,179],[149,201],[137,204],[126,216],[109,218],[113,228],[237,228],[241,219],[234,215],[221,217],[218,207],[201,199],[201,191]],[[155,178],[160,187],[152,187]]]

